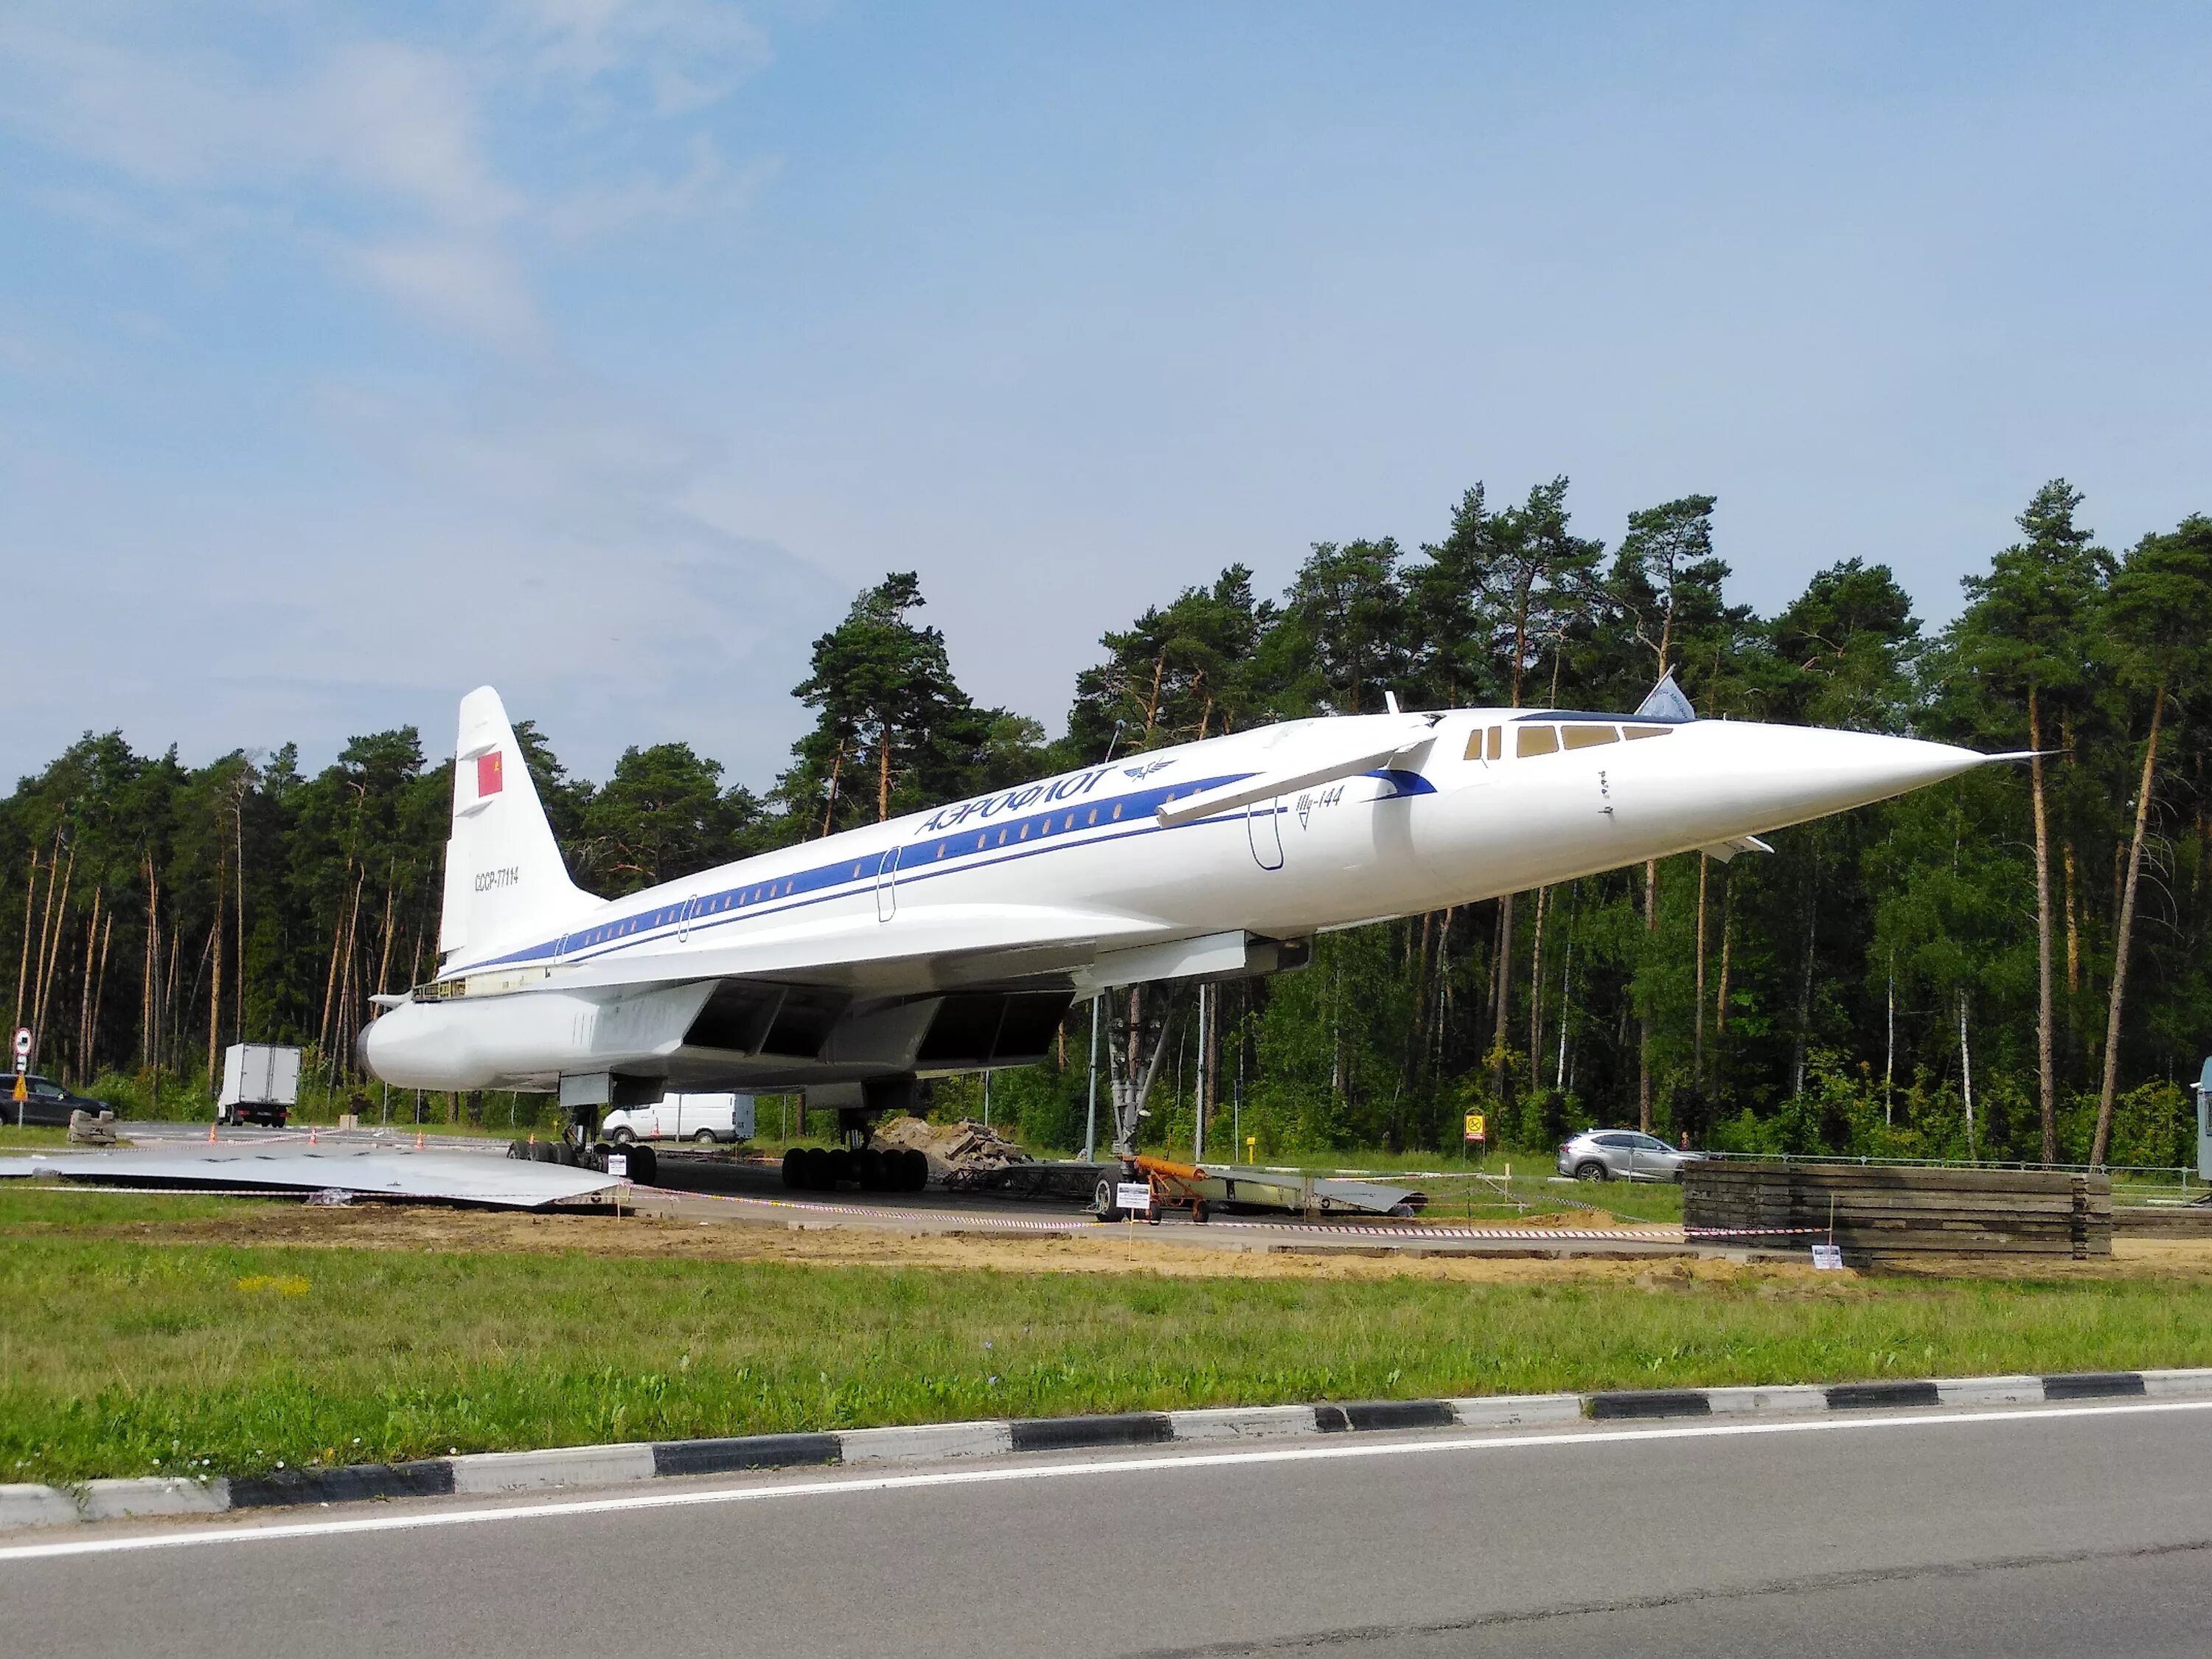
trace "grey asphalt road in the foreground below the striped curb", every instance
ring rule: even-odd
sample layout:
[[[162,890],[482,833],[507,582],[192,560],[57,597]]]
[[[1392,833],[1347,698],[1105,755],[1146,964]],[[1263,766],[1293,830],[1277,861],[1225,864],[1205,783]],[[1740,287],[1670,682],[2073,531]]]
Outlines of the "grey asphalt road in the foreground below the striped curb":
[[[0,1628],[42,1659],[2212,1648],[2203,1409],[1363,1436],[595,1498],[0,1548]]]

